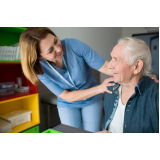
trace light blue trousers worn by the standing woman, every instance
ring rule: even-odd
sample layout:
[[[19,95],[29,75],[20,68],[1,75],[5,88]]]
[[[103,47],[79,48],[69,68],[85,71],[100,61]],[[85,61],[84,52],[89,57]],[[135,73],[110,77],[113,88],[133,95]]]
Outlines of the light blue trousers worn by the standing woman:
[[[58,112],[62,124],[97,132],[101,130],[102,109],[102,100],[100,100],[86,107],[58,108]]]

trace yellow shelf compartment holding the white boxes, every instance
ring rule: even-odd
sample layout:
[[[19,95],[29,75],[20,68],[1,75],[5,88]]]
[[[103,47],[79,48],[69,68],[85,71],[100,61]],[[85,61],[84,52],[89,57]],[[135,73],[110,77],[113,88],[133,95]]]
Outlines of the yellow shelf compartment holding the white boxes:
[[[14,127],[11,133],[22,132],[40,124],[38,93],[0,102],[0,115],[14,112],[20,109],[32,111],[32,121]]]

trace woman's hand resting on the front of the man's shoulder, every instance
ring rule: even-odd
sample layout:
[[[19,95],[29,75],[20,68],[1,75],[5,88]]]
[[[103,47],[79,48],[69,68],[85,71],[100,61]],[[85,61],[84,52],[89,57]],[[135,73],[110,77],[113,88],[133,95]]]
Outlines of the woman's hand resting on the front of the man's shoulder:
[[[99,92],[100,93],[107,92],[112,94],[112,91],[108,90],[107,88],[108,86],[114,86],[114,83],[110,83],[112,81],[113,81],[113,77],[105,79],[104,82],[98,86]]]

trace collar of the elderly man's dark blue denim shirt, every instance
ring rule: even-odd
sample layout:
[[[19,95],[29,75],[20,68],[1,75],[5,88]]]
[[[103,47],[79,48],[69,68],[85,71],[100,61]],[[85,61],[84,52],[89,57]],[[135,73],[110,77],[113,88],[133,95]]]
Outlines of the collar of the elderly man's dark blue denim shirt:
[[[135,93],[139,93],[140,95],[142,94],[142,92],[145,90],[148,81],[150,80],[150,77],[144,76],[142,77],[142,79],[139,81],[139,83],[137,84],[137,86],[135,87]],[[115,83],[113,86],[113,92],[118,94],[118,88],[119,88],[120,84],[119,83]]]

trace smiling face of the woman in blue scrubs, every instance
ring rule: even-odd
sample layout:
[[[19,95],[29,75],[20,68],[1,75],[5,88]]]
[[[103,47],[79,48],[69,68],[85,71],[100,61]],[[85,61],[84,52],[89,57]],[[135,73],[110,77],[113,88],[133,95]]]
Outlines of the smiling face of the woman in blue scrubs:
[[[52,62],[61,60],[64,53],[61,41],[50,33],[40,41],[40,50],[41,56]]]

